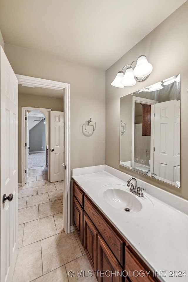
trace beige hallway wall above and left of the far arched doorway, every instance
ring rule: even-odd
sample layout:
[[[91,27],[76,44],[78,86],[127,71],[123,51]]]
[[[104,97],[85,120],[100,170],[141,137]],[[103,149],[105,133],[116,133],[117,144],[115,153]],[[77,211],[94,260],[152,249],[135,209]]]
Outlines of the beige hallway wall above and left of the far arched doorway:
[[[63,99],[18,93],[18,183],[21,183],[21,107],[51,109],[63,112]],[[43,112],[46,115],[46,112]],[[46,126],[47,123],[46,123]]]

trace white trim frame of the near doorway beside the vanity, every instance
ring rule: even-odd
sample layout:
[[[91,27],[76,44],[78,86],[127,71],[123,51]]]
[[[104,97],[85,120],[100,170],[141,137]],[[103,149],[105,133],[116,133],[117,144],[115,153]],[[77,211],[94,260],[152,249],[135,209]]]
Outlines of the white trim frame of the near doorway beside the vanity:
[[[49,88],[55,90],[63,90],[63,111],[64,111],[64,140],[65,140],[65,154],[64,163],[64,197],[63,197],[63,217],[64,217],[64,231],[70,233],[70,84],[42,78],[35,78],[31,76],[18,75],[18,84],[24,86],[36,86],[41,88]]]

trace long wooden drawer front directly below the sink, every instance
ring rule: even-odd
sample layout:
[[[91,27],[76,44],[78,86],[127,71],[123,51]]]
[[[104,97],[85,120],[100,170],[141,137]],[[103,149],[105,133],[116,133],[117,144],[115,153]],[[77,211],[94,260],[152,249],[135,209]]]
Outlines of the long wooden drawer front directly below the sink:
[[[97,207],[94,207],[90,203],[87,196],[84,198],[84,209],[90,217],[93,224],[98,229],[99,233],[106,241],[111,251],[114,253],[118,261],[123,265],[123,240],[117,235],[117,233],[109,226],[107,219],[104,219]]]

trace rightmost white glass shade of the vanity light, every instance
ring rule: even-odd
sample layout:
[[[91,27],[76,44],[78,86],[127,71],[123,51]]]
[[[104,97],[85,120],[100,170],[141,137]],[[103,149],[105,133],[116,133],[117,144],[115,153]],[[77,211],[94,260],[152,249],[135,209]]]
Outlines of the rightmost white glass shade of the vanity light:
[[[147,76],[152,72],[152,65],[150,63],[148,63],[146,56],[140,56],[137,59],[137,64],[134,68],[134,75],[136,77],[143,77],[143,76]]]

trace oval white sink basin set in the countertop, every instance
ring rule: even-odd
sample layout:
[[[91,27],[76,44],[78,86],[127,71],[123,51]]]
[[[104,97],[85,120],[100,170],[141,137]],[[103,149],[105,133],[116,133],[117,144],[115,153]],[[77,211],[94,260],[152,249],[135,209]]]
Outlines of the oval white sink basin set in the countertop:
[[[116,212],[132,215],[153,210],[153,204],[146,195],[140,198],[131,193],[125,185],[108,184],[101,187],[98,194],[103,202]]]

